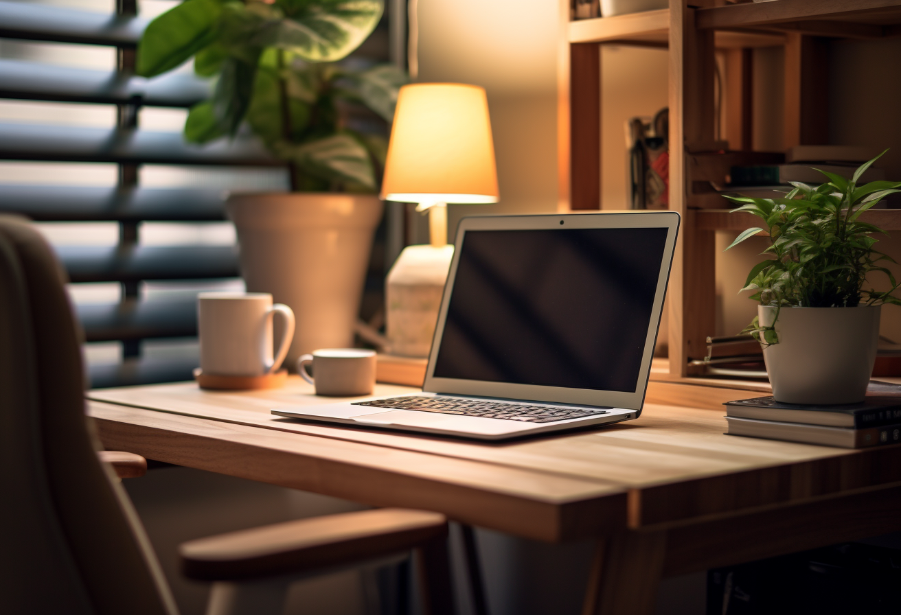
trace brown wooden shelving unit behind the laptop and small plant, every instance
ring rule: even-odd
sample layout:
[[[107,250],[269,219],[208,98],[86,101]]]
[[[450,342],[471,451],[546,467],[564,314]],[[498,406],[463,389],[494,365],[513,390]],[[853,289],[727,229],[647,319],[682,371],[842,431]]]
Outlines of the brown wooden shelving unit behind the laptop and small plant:
[[[669,9],[576,22],[569,21],[569,0],[561,0],[560,23],[561,210],[600,208],[600,45],[669,48],[669,208],[682,215],[669,278],[669,373],[693,375],[689,362],[704,357],[714,332],[714,232],[756,225],[750,215],[728,214],[727,203],[705,185],[721,167],[778,162],[750,151],[751,131],[742,129],[750,125],[750,105],[735,104],[747,98],[741,88],[724,100],[741,134],[728,131],[732,143],[714,139],[715,51],[725,50],[727,73],[737,71],[733,83],[747,87],[750,49],[784,45],[784,145],[823,142],[828,113],[811,91],[827,77],[822,37],[901,35],[901,0],[669,0]],[[866,215],[901,231],[901,211]]]

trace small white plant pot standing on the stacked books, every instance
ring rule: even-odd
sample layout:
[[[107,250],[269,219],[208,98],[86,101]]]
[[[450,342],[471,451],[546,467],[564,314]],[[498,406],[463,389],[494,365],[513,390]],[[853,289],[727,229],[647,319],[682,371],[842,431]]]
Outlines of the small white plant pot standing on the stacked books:
[[[773,397],[785,403],[857,403],[867,394],[881,306],[782,308],[778,344],[763,349]],[[776,308],[757,308],[769,326]]]

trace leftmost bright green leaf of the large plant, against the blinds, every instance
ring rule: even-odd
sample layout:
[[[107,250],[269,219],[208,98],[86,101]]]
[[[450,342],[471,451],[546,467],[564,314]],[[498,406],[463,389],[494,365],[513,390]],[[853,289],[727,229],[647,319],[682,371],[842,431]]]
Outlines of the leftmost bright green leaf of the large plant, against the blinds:
[[[165,73],[211,44],[219,14],[215,0],[186,0],[159,15],[138,43],[138,74],[154,77]]]

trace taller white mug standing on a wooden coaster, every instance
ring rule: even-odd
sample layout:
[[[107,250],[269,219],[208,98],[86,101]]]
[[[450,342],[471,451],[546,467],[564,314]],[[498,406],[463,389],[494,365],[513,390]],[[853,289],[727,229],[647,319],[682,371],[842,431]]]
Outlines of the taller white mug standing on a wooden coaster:
[[[272,319],[285,321],[272,356]],[[294,338],[294,312],[268,293],[197,294],[200,369],[207,375],[266,375],[278,370]]]

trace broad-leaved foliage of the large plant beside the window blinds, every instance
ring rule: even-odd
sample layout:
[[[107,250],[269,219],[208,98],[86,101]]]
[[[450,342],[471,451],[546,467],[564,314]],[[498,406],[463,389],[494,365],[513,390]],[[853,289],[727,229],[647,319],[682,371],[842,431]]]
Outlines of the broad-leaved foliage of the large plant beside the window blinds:
[[[185,0],[148,25],[137,72],[155,77],[194,57],[195,73],[215,86],[188,113],[186,140],[233,138],[246,120],[287,161],[292,189],[375,192],[387,140],[365,128],[374,122],[354,122],[355,110],[391,122],[406,77],[339,60],[382,11],[381,0]]]

